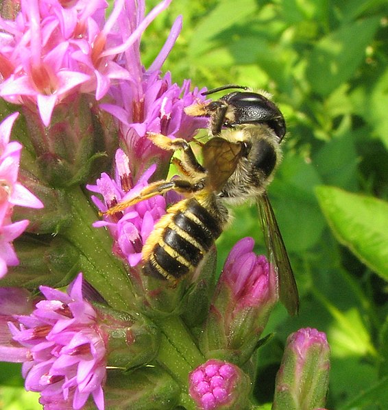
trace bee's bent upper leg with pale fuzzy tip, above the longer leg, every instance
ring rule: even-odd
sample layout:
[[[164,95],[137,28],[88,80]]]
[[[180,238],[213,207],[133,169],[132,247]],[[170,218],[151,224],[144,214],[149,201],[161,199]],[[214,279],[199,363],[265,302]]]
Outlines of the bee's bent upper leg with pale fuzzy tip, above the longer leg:
[[[175,138],[175,140],[171,140],[171,138],[158,133],[147,133],[147,137],[152,142],[154,142],[156,146],[164,149],[165,151],[182,150],[183,162],[185,164],[184,167],[186,168],[187,172],[189,172],[189,174],[191,174],[191,172],[206,172],[205,168],[201,164],[199,164],[197,158],[195,158],[189,142],[187,142],[183,138]]]

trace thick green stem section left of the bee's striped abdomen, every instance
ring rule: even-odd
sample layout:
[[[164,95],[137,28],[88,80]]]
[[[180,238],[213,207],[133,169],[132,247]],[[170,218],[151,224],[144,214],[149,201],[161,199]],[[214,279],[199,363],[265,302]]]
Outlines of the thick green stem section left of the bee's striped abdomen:
[[[114,309],[133,309],[136,296],[127,272],[112,254],[112,240],[106,229],[92,226],[97,220],[93,205],[80,187],[73,188],[68,195],[73,223],[66,230],[66,238],[80,250],[84,277]]]

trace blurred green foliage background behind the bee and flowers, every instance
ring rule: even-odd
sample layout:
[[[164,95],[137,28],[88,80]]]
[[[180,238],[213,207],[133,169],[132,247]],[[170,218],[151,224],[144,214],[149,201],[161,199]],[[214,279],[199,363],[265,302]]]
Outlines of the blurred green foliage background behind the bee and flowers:
[[[328,335],[332,351],[326,407],[388,409],[387,1],[174,0],[143,36],[145,66],[178,14],[184,27],[164,66],[173,81],[267,90],[287,120],[269,196],[300,315],[289,318],[279,306],[271,316],[274,337],[258,352],[257,402],[271,402],[287,335],[311,326]],[[263,252],[256,207],[234,214],[218,242],[220,270],[243,236]],[[0,409],[40,408],[15,387],[19,366],[5,366]]]

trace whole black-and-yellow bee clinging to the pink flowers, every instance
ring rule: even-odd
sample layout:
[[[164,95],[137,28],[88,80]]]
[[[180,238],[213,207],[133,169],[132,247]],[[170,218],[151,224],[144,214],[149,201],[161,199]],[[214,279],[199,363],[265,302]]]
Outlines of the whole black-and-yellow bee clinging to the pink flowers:
[[[104,214],[115,214],[169,190],[182,194],[184,199],[169,207],[156,222],[142,251],[144,274],[176,283],[197,268],[221,235],[230,220],[226,205],[256,200],[269,262],[278,272],[280,300],[293,315],[298,313],[298,290],[266,193],[282,159],[284,117],[265,95],[241,86],[224,86],[204,94],[228,88],[244,91],[230,92],[217,101],[186,109],[189,115],[210,118],[211,138],[202,145],[202,164],[186,140],[149,133],[148,138],[161,149],[182,152],[181,159],[173,157],[182,178],[150,183],[138,196]]]

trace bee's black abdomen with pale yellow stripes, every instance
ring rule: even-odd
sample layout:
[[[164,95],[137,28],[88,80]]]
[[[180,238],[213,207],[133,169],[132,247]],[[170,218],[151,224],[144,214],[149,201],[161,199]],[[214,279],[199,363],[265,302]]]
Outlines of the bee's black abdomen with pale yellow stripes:
[[[173,205],[143,247],[143,272],[176,281],[192,272],[221,235],[224,218],[215,218],[195,198]]]

